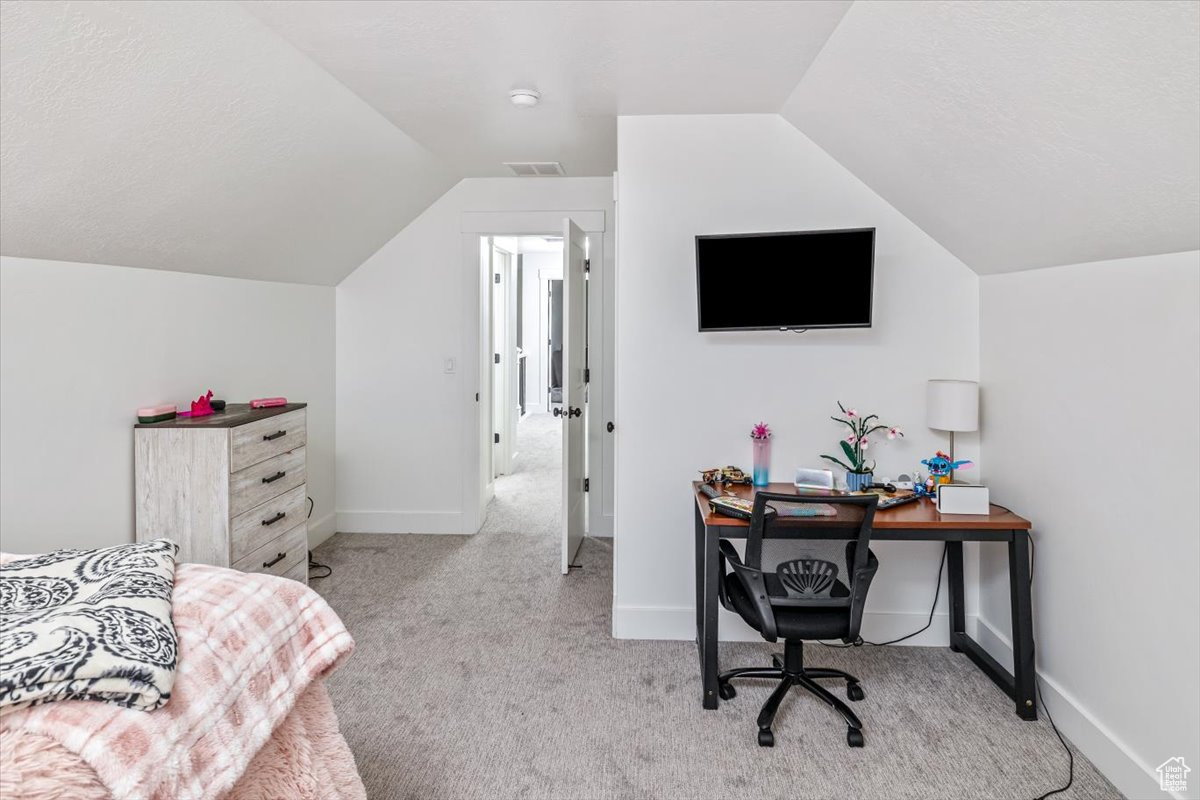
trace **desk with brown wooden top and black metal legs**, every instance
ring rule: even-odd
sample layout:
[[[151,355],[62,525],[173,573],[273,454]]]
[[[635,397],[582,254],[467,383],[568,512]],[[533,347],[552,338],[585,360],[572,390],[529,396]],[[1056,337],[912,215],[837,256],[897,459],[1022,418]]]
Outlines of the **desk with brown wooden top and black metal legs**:
[[[706,709],[715,709],[716,693],[716,581],[718,541],[745,539],[750,523],[733,517],[714,515],[708,497],[694,482],[692,507],[696,515],[696,646],[703,679]],[[750,498],[750,486],[728,487],[734,494]],[[800,494],[791,483],[772,483],[768,492]],[[845,515],[842,509],[839,509]],[[845,517],[806,517],[787,519],[782,524],[806,529],[809,539],[844,539],[839,528],[854,528]],[[1012,511],[991,506],[989,515],[941,515],[929,500],[918,500],[895,509],[875,512],[871,539],[881,542],[946,542],[949,569],[950,650],[962,652],[1000,686],[1016,704],[1022,720],[1037,720],[1038,709],[1033,685],[1033,614],[1030,600],[1030,521]],[[1008,590],[1013,603],[1013,666],[1009,673],[979,643],[966,633],[966,606],[962,587],[962,542],[1008,543]]]

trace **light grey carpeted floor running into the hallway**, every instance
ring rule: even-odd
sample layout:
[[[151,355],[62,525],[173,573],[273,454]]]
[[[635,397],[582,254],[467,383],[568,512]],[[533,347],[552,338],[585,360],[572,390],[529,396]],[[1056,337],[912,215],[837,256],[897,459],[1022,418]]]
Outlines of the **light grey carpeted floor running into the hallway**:
[[[522,440],[521,463],[554,483],[551,421],[522,423],[542,445]],[[1049,724],[1018,720],[965,656],[935,648],[810,646],[814,666],[863,680],[866,747],[794,692],[776,746],[758,747],[769,685],[743,681],[704,711],[695,644],[613,639],[611,543],[586,540],[583,570],[559,575],[557,483],[518,479],[497,487],[480,535],[338,534],[317,551],[334,573],[312,585],[358,640],[329,690],[372,800],[1002,799],[1064,781]],[[773,650],[722,644],[721,663]],[[1056,796],[1120,794],[1076,753]]]

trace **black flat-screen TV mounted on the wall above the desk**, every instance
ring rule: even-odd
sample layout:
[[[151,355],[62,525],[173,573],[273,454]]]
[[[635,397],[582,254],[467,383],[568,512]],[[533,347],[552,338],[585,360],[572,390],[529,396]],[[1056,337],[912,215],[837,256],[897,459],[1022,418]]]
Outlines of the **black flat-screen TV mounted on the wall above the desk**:
[[[875,228],[696,236],[701,331],[870,327]]]

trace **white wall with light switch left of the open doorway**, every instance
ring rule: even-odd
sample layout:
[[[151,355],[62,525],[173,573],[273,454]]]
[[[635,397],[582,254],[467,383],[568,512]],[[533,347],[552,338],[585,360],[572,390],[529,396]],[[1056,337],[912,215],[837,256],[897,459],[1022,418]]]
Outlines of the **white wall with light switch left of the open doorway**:
[[[611,219],[611,179],[467,179],[338,284],[338,530],[474,533],[464,402],[479,391],[479,365],[467,363],[476,345],[464,331],[478,325],[479,273],[463,215],[584,210]]]

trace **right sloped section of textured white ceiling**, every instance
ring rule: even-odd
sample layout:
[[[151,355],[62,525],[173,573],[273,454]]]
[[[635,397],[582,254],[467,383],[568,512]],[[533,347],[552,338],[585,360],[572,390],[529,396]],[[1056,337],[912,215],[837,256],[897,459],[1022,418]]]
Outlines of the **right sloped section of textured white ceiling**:
[[[978,272],[1200,248],[1196,2],[858,2],[782,113]]]

